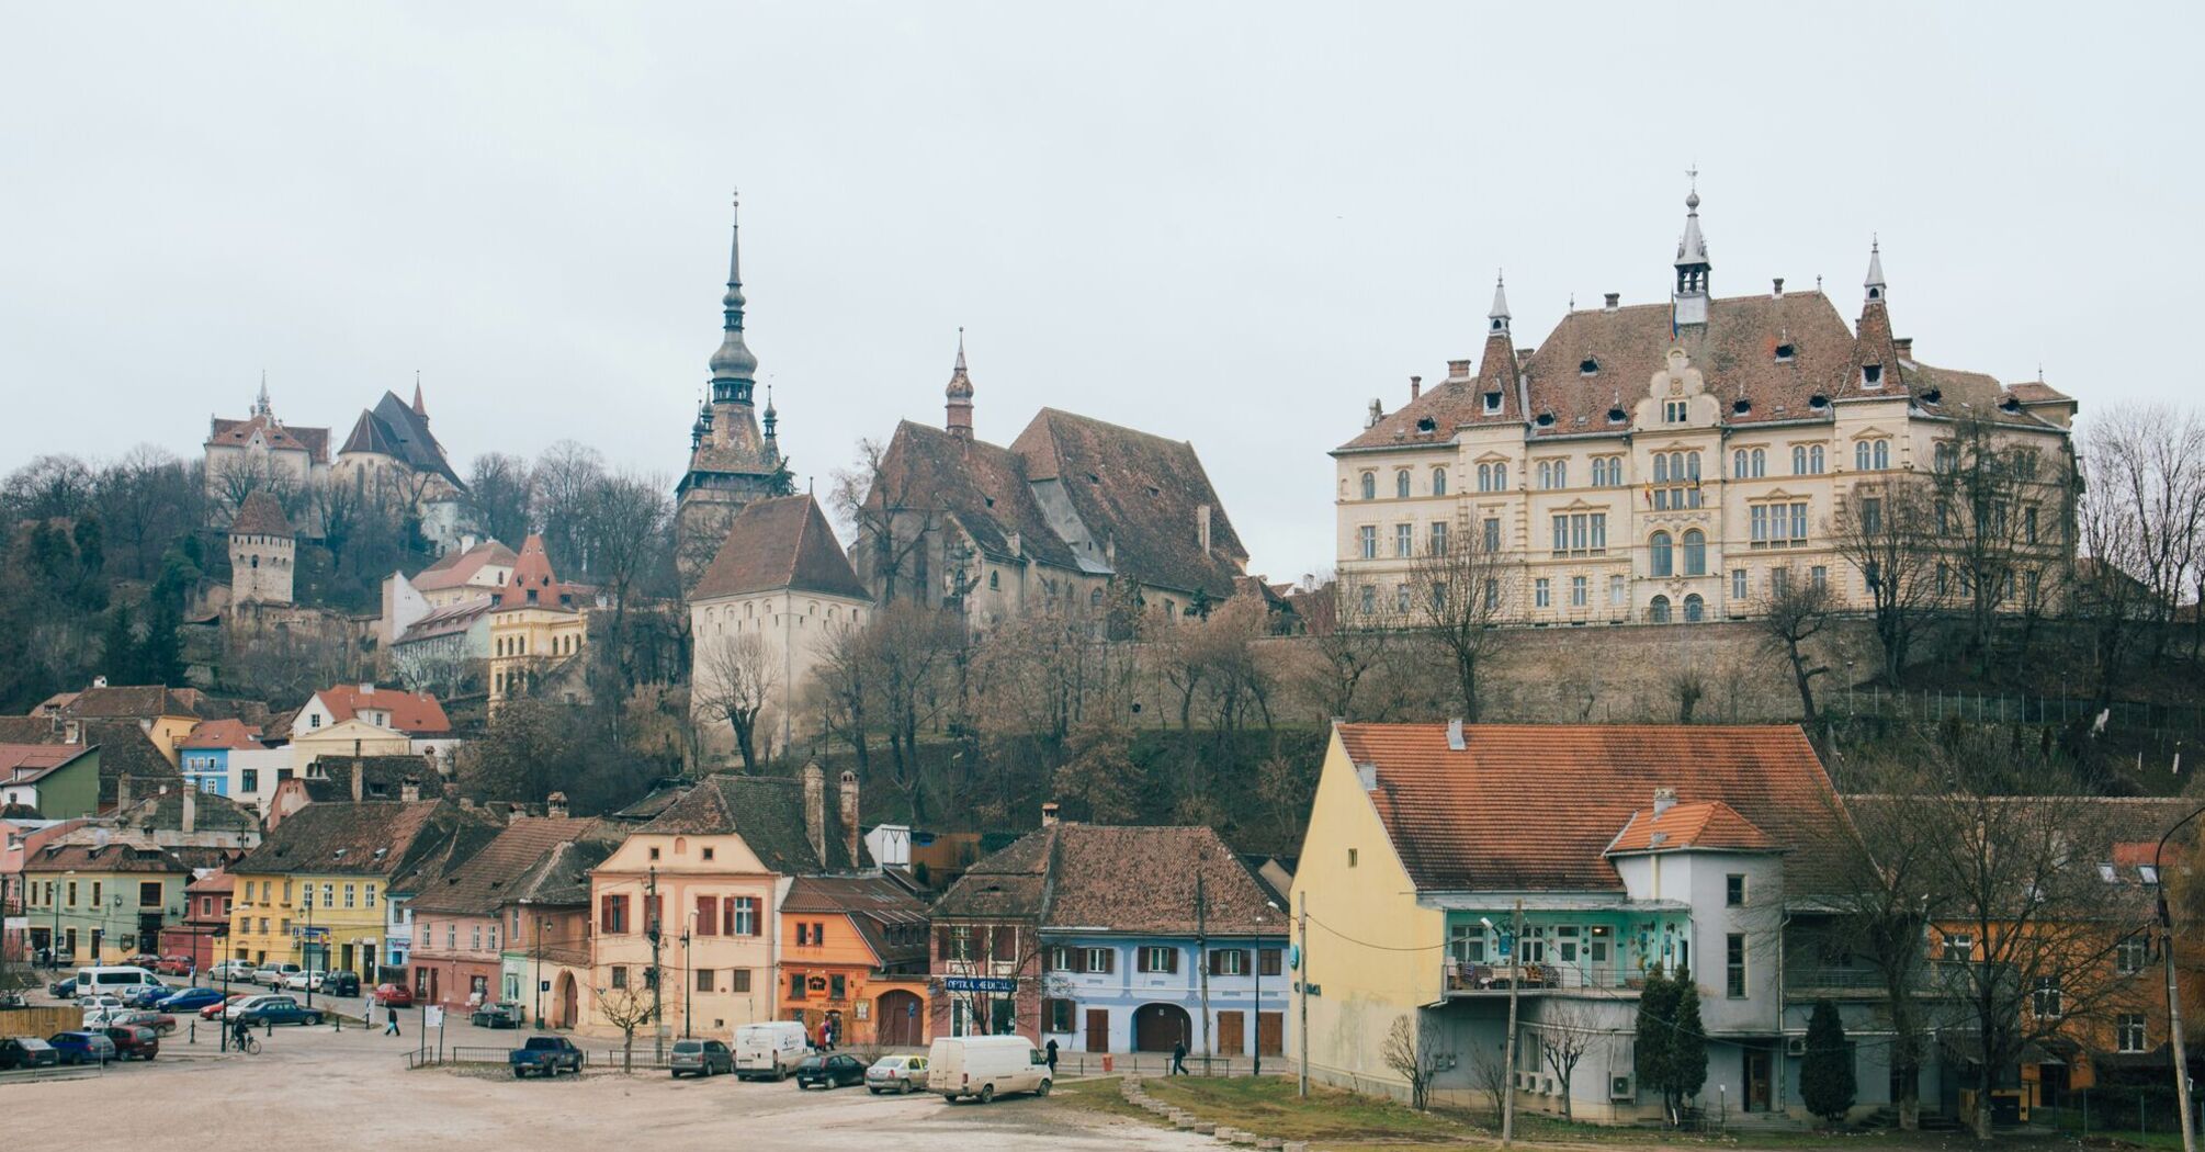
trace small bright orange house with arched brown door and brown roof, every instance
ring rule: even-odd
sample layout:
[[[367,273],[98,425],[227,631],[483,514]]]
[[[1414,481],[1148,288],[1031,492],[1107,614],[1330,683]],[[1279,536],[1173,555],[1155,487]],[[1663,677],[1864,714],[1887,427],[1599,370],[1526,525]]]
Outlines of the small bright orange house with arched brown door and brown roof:
[[[796,876],[781,900],[781,1020],[838,1048],[926,1044],[926,905],[889,876]]]

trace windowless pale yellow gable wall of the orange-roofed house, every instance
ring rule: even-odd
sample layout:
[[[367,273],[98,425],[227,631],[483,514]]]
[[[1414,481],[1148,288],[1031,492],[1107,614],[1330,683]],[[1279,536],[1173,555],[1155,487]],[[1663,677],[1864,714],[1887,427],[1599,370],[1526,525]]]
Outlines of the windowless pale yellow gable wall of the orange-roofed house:
[[[1420,1006],[1444,998],[1433,947],[1446,940],[1446,914],[1418,907],[1416,883],[1338,733],[1316,779],[1292,914],[1303,949],[1299,980],[1319,989],[1308,998],[1310,1075],[1363,1084],[1391,1077],[1380,1053],[1394,1020],[1413,1022]],[[1297,998],[1286,1015],[1290,1055],[1301,1053],[1301,1013]]]

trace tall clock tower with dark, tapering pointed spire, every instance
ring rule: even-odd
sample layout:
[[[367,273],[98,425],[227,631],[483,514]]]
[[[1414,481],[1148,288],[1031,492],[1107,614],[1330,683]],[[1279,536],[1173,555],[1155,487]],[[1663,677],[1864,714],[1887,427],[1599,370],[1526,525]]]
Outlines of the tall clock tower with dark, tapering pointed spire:
[[[759,430],[754,393],[759,358],[743,342],[743,245],[741,221],[728,252],[728,294],[721,298],[721,338],[712,353],[712,397],[697,410],[690,426],[690,466],[675,488],[675,567],[681,587],[712,563],[734,514],[759,497],[789,494],[789,466],[774,439],[774,410],[767,402],[765,430]]]

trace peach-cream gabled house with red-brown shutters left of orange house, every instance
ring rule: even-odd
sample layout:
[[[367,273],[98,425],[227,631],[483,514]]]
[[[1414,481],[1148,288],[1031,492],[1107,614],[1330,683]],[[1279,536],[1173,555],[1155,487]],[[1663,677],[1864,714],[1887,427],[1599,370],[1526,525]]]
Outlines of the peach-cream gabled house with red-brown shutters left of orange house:
[[[613,1017],[653,993],[657,1022],[639,1039],[774,1020],[789,883],[860,858],[856,777],[838,803],[816,764],[800,781],[706,777],[591,872],[591,986],[576,989],[587,1028],[617,1033]]]

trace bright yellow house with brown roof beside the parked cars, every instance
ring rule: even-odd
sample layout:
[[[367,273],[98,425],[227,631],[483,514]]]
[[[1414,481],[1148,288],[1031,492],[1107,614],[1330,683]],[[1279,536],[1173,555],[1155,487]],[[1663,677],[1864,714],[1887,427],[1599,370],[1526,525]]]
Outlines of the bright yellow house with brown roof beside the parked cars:
[[[229,958],[346,969],[373,982],[390,878],[481,847],[487,817],[445,801],[309,803],[232,867]]]

